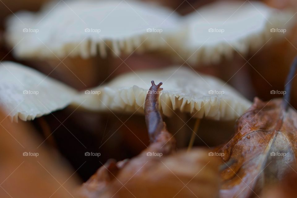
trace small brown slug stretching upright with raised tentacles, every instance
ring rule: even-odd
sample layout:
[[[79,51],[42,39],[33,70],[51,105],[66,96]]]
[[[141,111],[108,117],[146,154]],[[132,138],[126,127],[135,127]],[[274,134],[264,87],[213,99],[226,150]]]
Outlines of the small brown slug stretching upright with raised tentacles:
[[[150,141],[154,142],[156,136],[160,134],[162,129],[165,127],[161,113],[159,111],[159,95],[161,90],[163,90],[163,88],[160,88],[160,86],[163,83],[160,82],[156,85],[153,80],[151,83],[152,86],[149,88],[145,98],[144,115]]]

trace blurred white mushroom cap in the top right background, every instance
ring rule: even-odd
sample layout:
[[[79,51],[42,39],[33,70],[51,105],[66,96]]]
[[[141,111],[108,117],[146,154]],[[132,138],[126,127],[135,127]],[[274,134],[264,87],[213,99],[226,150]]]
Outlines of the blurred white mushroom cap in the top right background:
[[[188,34],[172,47],[190,63],[217,63],[223,56],[246,54],[270,39],[284,38],[294,24],[294,13],[255,1],[217,1],[184,17]]]

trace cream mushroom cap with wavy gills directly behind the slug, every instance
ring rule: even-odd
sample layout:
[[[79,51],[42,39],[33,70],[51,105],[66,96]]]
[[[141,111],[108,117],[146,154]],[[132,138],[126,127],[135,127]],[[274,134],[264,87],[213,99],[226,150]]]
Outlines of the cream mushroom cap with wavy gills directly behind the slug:
[[[232,120],[251,105],[235,89],[217,78],[187,67],[131,72],[118,76],[105,86],[81,93],[76,103],[89,110],[144,113],[144,101],[151,80],[163,82],[160,110],[166,116],[175,110],[195,118]]]

